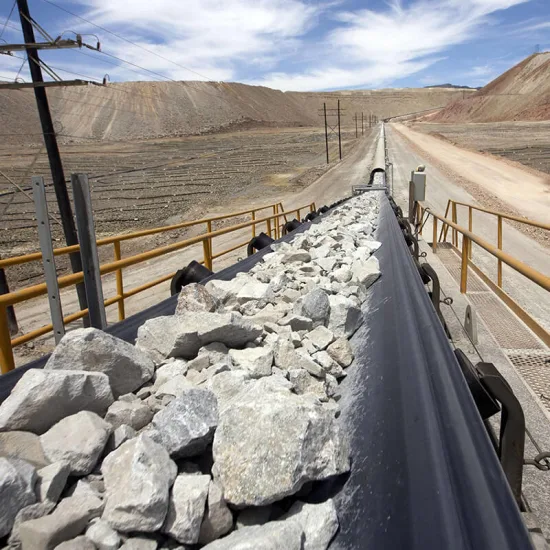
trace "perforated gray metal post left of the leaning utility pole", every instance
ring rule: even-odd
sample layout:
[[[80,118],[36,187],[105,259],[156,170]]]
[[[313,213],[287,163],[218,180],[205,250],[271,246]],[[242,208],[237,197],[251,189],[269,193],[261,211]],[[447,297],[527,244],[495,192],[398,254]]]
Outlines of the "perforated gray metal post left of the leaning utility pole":
[[[48,203],[46,202],[46,188],[44,178],[41,176],[32,177],[32,194],[36,221],[38,222],[38,240],[42,251],[42,265],[44,266],[44,278],[48,289],[48,304],[53,325],[55,343],[59,344],[65,335],[65,324],[63,323],[63,310],[61,308],[61,296],[57,283],[57,271],[55,269],[55,258],[53,255],[52,233],[50,229],[50,218],[48,216]]]

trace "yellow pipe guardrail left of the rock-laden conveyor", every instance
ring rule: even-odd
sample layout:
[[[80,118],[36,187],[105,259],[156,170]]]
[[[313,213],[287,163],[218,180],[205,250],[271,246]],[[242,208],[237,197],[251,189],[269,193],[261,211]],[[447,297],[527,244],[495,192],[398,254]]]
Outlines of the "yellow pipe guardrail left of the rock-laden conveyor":
[[[109,273],[115,273],[116,280],[116,295],[111,296],[110,298],[104,301],[105,307],[111,306],[113,304],[118,305],[118,319],[121,321],[125,319],[125,300],[136,294],[149,290],[157,285],[160,285],[166,281],[172,279],[175,275],[175,272],[163,275],[157,279],[149,281],[145,284],[142,284],[138,287],[127,290],[124,288],[124,279],[123,279],[123,269],[137,265],[146,261],[149,261],[153,258],[158,258],[166,254],[188,248],[190,246],[200,244],[203,245],[203,259],[200,261],[201,264],[204,264],[208,269],[212,270],[213,262],[215,259],[220,258],[230,252],[238,250],[241,247],[244,247],[250,241],[250,238],[243,242],[239,242],[236,245],[231,246],[226,250],[221,252],[213,253],[213,240],[216,237],[222,235],[227,235],[229,233],[239,231],[246,228],[251,228],[252,237],[256,236],[257,226],[265,224],[265,232],[274,238],[279,238],[282,235],[282,228],[286,221],[289,220],[289,216],[296,216],[298,219],[301,217],[301,212],[308,211],[312,212],[315,210],[315,203],[307,204],[299,208],[295,208],[290,211],[286,211],[283,208],[283,205],[278,202],[270,204],[268,206],[262,206],[259,208],[254,208],[250,210],[243,210],[240,212],[234,212],[232,214],[214,216],[210,218],[203,218],[200,220],[182,222],[179,224],[169,225],[165,227],[156,227],[152,229],[145,229],[142,231],[135,231],[133,233],[127,233],[123,235],[115,235],[112,237],[107,237],[99,239],[97,241],[98,246],[113,245],[113,255],[114,261],[103,263],[100,266],[100,274],[107,275]],[[262,210],[270,210],[269,215],[258,216],[258,212]],[[231,225],[229,227],[213,230],[212,224],[215,222],[222,222],[231,218],[236,218],[240,216],[250,215],[251,219],[246,222],[238,223]],[[290,218],[292,219],[292,218]],[[154,248],[146,252],[135,254],[127,258],[122,258],[120,244],[123,241],[129,241],[133,239],[138,239],[141,237],[148,237],[156,234],[164,234],[170,231],[175,231],[178,229],[195,227],[204,225],[206,232],[200,235],[184,239],[175,243],[171,243],[165,246]],[[54,256],[63,256],[68,255],[74,252],[79,252],[80,247],[75,246],[65,246],[57,248],[54,250]],[[22,265],[29,262],[36,262],[42,260],[42,254],[36,252],[33,254],[26,254],[24,256],[16,256],[13,258],[6,258],[0,260],[0,269],[6,269],[12,266]],[[69,275],[63,275],[58,277],[57,282],[60,289],[67,288],[80,284],[84,281],[84,276],[82,272],[71,273]],[[10,306],[15,306],[16,304],[21,304],[28,300],[34,298],[45,296],[48,293],[46,283],[40,283],[33,286],[25,287],[20,290],[15,290],[7,294],[0,295],[0,371],[2,373],[8,372],[15,368],[15,360],[13,356],[13,348],[30,342],[40,336],[48,334],[53,331],[53,325],[48,324],[38,329],[32,330],[26,334],[11,338],[9,327],[8,327],[8,308]],[[67,315],[63,318],[63,324],[67,325],[73,321],[81,319],[88,313],[87,309],[79,310],[75,313]]]

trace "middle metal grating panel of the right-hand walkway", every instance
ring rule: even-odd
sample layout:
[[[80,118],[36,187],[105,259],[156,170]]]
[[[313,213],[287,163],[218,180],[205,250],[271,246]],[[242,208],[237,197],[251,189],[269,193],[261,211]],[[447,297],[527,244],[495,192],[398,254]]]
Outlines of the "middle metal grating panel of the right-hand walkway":
[[[468,298],[501,348],[507,350],[543,348],[533,333],[494,294],[489,292],[469,294]]]

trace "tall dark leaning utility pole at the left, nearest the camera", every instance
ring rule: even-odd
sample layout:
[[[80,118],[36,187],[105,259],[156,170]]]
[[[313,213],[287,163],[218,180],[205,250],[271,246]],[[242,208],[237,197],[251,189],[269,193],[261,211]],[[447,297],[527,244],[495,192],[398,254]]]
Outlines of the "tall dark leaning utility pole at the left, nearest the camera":
[[[36,106],[38,108],[40,124],[42,125],[42,133],[44,134],[44,144],[46,145],[48,160],[50,162],[53,187],[57,198],[57,204],[59,206],[59,215],[61,217],[63,233],[65,234],[65,241],[67,242],[67,245],[72,246],[78,244],[78,237],[76,234],[73,213],[71,210],[71,203],[69,201],[67,184],[65,182],[65,174],[63,173],[61,155],[59,154],[59,147],[57,145],[57,138],[53,126],[52,115],[50,113],[50,106],[48,104],[48,97],[46,95],[46,90],[43,86],[44,79],[42,77],[42,69],[40,67],[38,50],[35,47],[28,46],[29,44],[35,44],[36,41],[34,37],[34,28],[31,23],[32,18],[29,13],[27,0],[17,0],[17,7],[19,9],[19,18],[21,20],[23,38],[25,40],[25,44],[27,44],[25,49],[27,52],[27,59],[32,81],[33,84],[38,84],[38,86],[34,87],[34,96],[36,98]],[[71,267],[74,273],[82,271],[82,261],[80,259],[80,254],[71,254],[70,260]],[[78,294],[80,308],[86,309],[86,293],[83,285],[77,285],[76,291]],[[84,322],[86,325],[86,318],[84,318]]]

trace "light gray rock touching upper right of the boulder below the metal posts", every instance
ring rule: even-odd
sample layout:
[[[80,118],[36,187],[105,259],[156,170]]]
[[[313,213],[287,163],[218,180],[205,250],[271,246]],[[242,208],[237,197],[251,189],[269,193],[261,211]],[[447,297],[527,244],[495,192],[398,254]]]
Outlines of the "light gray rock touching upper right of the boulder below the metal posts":
[[[157,361],[166,357],[192,359],[201,346],[189,315],[156,317],[138,329],[136,346],[148,350]]]

